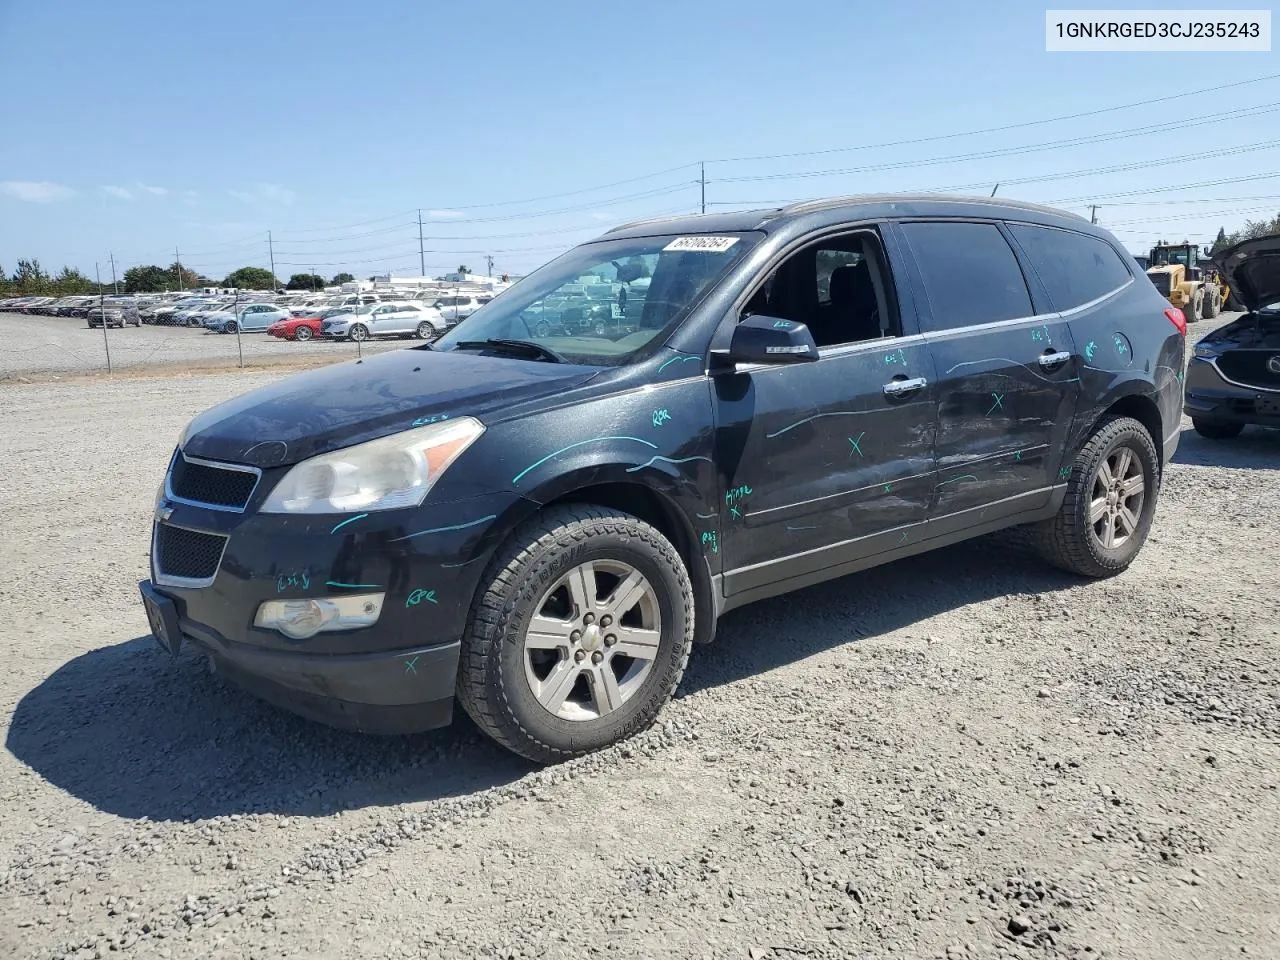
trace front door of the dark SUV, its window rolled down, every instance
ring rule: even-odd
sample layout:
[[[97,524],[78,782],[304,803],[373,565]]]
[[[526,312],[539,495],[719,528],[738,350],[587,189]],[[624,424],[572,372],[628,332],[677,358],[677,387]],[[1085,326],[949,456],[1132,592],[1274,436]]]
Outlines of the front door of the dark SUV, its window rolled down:
[[[918,538],[934,489],[928,347],[874,229],[786,259],[744,314],[804,323],[820,358],[717,374],[724,593]],[[735,317],[740,319],[740,317]]]

